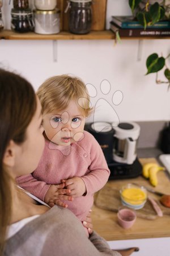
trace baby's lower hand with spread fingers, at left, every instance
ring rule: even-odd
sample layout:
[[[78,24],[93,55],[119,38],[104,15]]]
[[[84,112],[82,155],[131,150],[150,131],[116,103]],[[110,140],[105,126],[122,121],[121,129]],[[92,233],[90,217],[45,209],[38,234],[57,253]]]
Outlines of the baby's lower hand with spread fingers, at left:
[[[63,203],[61,200],[73,201],[73,196],[70,195],[71,190],[64,187],[64,183],[58,185],[50,185],[44,197],[45,203],[50,207],[53,207],[54,204],[57,204],[61,207],[67,208],[68,205]]]

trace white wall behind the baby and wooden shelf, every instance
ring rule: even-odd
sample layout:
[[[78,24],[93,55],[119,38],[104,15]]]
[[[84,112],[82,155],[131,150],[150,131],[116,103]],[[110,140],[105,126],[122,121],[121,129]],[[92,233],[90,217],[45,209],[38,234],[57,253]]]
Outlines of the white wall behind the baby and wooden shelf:
[[[128,0],[110,0],[108,3],[108,18],[113,6],[113,14],[129,14]],[[5,0],[2,11],[6,28],[10,26],[10,8]],[[140,61],[137,60],[139,40],[122,40],[116,46],[113,40],[59,40],[57,62],[53,61],[53,42],[50,40],[0,40],[0,62],[1,67],[10,67],[26,77],[35,89],[50,76],[73,73],[85,83],[93,84],[97,97],[103,98],[100,82],[107,79],[112,86],[107,101],[115,90],[124,94],[121,104],[113,105],[120,121],[167,120],[170,118],[170,90],[167,92],[165,84],[155,84],[155,74],[145,76],[145,63],[153,52],[167,56],[169,39],[142,40]],[[170,60],[167,63],[170,67]],[[92,99],[92,104],[95,102]],[[100,119],[113,121],[112,112],[108,112],[107,106],[102,107],[107,115],[102,112]]]

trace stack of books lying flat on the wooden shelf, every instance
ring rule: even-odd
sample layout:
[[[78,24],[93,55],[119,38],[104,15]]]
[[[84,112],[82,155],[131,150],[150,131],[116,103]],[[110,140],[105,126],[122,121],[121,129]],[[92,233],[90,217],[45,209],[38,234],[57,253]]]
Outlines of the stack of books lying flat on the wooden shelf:
[[[119,36],[150,37],[170,36],[170,20],[161,20],[146,30],[133,16],[112,16],[111,30]]]

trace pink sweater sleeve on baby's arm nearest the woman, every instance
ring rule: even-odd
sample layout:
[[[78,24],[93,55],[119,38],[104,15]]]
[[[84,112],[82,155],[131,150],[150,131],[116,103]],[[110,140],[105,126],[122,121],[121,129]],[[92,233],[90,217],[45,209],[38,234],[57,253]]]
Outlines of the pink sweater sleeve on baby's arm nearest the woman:
[[[33,177],[33,173],[17,177],[16,183],[42,201],[44,201],[45,194],[50,187],[50,184]]]

